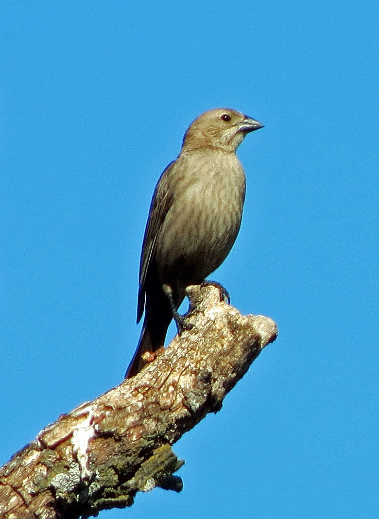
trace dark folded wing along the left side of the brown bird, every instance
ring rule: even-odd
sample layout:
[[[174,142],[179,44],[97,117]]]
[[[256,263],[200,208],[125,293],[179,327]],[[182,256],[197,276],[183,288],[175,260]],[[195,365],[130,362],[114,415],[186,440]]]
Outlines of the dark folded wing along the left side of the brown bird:
[[[146,293],[146,275],[154,256],[155,244],[159,235],[159,230],[172,203],[172,193],[169,194],[168,184],[166,182],[169,172],[175,165],[175,161],[171,162],[165,171],[160,175],[158,183],[154,190],[153,199],[148,213],[145,234],[142,243],[142,253],[140,262],[140,279],[138,288],[138,305],[137,305],[137,322],[140,322],[144,306]]]

